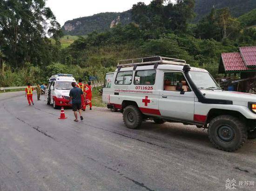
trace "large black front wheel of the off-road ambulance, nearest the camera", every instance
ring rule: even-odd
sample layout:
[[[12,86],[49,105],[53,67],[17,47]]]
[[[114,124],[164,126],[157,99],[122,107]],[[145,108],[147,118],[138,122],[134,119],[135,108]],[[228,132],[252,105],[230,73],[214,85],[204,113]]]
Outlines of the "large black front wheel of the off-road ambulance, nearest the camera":
[[[220,150],[233,152],[247,140],[245,123],[231,115],[220,115],[212,119],[208,127],[212,144]]]

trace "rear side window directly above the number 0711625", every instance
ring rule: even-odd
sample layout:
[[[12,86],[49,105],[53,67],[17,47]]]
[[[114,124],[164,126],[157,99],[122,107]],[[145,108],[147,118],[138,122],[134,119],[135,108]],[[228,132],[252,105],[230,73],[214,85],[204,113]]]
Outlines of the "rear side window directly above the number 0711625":
[[[155,84],[155,70],[142,70],[135,72],[135,85],[154,85]]]

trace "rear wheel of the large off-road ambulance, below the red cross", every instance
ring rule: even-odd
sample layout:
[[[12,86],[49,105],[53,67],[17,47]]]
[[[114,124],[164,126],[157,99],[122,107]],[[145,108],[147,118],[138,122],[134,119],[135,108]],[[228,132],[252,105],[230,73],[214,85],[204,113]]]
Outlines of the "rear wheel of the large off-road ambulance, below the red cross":
[[[123,121],[126,127],[136,129],[141,126],[142,120],[142,113],[138,107],[129,105],[124,108]]]

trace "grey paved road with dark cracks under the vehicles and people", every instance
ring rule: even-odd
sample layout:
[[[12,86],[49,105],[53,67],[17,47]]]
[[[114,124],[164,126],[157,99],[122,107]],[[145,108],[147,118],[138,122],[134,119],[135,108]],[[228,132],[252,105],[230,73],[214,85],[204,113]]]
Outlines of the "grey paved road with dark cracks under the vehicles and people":
[[[256,180],[256,141],[226,153],[194,126],[145,122],[131,130],[105,108],[77,123],[65,112],[61,121],[44,101],[29,107],[23,92],[0,94],[1,191],[205,191],[225,190],[228,178]]]

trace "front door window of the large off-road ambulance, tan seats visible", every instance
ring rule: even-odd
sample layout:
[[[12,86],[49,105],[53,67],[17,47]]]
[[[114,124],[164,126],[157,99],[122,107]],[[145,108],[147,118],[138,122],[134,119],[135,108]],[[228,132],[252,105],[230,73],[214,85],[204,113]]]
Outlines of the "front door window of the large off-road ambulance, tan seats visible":
[[[176,86],[177,83],[182,83],[182,89],[184,91],[191,91],[189,89],[189,84],[187,83],[185,76],[182,72],[165,72],[164,73],[164,86],[163,90],[165,91],[177,91]]]

